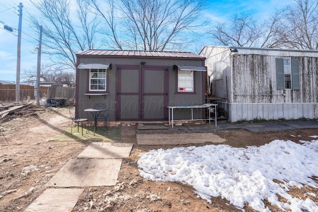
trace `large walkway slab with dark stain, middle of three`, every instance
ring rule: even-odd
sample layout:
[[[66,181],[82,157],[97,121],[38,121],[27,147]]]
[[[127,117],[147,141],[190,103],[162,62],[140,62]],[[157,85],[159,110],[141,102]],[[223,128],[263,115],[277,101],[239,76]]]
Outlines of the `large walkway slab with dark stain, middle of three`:
[[[71,159],[49,181],[57,187],[114,186],[122,159]]]

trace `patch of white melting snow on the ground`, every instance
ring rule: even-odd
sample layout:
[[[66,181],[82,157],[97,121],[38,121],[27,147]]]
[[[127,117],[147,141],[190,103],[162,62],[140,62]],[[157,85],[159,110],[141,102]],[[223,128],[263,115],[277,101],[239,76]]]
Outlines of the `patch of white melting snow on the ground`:
[[[154,149],[141,155],[138,167],[144,178],[192,185],[209,203],[212,196],[221,196],[236,207],[243,208],[247,201],[254,210],[267,212],[262,202],[267,199],[283,210],[317,212],[312,200],[287,193],[290,186],[318,187],[309,178],[318,176],[318,140],[302,143],[275,140],[247,148],[222,144]],[[279,202],[277,195],[287,203]]]

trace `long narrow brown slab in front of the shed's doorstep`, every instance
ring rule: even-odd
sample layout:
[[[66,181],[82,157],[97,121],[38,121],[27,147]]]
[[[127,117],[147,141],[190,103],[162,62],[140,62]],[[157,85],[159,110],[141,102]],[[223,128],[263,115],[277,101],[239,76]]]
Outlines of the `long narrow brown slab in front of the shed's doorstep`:
[[[136,138],[139,145],[180,145],[226,141],[212,133],[136,134]]]

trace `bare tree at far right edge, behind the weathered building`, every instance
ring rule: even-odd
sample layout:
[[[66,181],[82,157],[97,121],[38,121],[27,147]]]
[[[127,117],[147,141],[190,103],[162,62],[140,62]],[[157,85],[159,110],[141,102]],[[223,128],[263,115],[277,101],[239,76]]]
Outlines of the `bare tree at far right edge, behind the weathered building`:
[[[318,49],[318,1],[294,0],[288,7],[285,21],[289,27],[286,47],[293,49]]]

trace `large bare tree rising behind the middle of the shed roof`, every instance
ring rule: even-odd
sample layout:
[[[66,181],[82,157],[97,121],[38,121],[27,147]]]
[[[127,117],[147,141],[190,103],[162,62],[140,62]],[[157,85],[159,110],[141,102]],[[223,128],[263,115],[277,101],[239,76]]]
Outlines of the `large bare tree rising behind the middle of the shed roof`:
[[[200,21],[204,0],[86,0],[104,24],[115,49],[183,50]],[[190,39],[189,39],[190,38]]]

